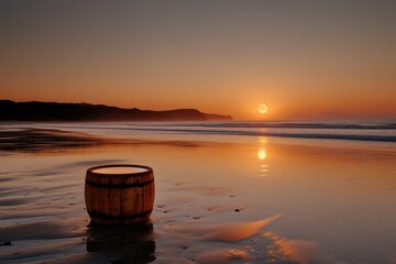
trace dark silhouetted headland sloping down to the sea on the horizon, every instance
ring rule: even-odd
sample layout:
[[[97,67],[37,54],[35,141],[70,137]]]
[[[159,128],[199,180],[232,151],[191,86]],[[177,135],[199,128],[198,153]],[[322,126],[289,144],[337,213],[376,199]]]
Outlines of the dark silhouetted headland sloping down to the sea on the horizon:
[[[221,121],[231,116],[204,113],[197,109],[166,111],[124,109],[105,105],[66,102],[15,102],[0,100],[1,121]]]

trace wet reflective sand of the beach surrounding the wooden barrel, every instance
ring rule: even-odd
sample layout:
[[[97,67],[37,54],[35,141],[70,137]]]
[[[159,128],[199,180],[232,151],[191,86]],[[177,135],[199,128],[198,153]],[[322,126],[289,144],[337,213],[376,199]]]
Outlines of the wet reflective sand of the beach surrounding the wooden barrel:
[[[0,150],[1,263],[396,261],[394,144],[8,128]],[[150,224],[87,227],[85,172],[113,163],[154,168]]]

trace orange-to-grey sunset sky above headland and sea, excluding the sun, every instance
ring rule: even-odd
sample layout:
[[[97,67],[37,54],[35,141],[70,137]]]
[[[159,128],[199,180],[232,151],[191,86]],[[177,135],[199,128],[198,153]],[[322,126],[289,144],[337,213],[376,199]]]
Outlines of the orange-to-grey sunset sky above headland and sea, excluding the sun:
[[[395,118],[395,13],[381,0],[1,1],[0,99]]]

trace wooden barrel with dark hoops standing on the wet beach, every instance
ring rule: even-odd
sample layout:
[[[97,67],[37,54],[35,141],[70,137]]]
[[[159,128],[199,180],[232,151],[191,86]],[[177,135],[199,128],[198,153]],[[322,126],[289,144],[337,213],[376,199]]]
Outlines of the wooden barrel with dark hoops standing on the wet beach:
[[[91,224],[146,222],[154,205],[153,169],[140,165],[106,165],[87,169],[85,200]]]

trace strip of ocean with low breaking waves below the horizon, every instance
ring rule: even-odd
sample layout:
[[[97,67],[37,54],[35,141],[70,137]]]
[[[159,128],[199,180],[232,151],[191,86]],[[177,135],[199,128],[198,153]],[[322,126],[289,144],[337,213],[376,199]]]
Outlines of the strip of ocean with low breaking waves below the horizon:
[[[33,124],[33,127],[35,127]],[[59,128],[94,132],[103,135],[151,136],[152,134],[180,135],[239,135],[276,136],[296,139],[349,140],[396,142],[396,121],[349,122],[95,122],[95,123],[41,123],[41,128]],[[166,136],[164,136],[166,138]]]

